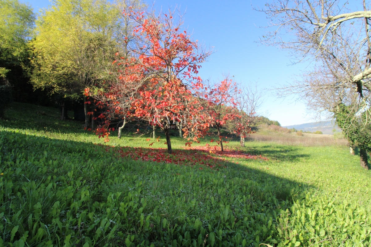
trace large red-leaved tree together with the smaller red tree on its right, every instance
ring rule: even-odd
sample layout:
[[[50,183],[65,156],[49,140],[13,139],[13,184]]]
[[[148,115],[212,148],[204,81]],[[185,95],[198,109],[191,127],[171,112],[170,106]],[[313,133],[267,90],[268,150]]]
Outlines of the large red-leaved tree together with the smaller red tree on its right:
[[[127,40],[127,55],[116,53],[113,61],[117,78],[107,81],[103,88],[85,90],[103,110],[96,134],[108,141],[114,119],[124,120],[124,124],[130,119],[147,121],[164,131],[171,154],[172,126],[182,126],[186,146],[216,128],[216,141],[223,151],[220,131],[230,120],[239,118],[233,110],[236,84],[226,78],[211,88],[204,87],[197,73],[211,52],[191,39],[181,28],[181,21],[175,23],[173,12],[156,16],[129,8],[123,14],[136,26]]]

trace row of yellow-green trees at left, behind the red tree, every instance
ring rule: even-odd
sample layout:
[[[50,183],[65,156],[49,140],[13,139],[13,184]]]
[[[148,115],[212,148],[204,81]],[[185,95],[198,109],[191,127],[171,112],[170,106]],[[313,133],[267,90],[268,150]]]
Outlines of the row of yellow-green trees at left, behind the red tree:
[[[122,15],[129,5],[143,7],[135,0],[57,0],[36,18],[27,4],[0,0],[0,77],[6,82],[0,84],[10,83],[20,102],[54,99],[65,119],[65,104],[112,79],[114,54],[125,50],[124,37],[132,31]],[[85,126],[87,112],[85,107]]]

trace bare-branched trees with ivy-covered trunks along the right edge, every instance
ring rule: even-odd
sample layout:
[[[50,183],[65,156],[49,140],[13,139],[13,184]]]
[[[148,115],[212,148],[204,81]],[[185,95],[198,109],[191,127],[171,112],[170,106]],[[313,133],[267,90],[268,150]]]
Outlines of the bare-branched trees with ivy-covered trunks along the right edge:
[[[262,43],[310,61],[301,80],[278,88],[278,96],[299,96],[309,110],[331,113],[368,168],[371,151],[370,3],[338,0],[273,0],[263,11],[270,20]],[[350,7],[349,7],[350,6]]]

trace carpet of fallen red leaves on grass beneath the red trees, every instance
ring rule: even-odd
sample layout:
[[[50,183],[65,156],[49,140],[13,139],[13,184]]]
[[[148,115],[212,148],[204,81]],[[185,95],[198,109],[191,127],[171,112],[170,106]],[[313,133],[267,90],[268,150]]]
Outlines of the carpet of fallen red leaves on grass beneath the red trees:
[[[106,150],[111,148],[123,158],[179,165],[201,164],[210,168],[225,167],[226,162],[232,162],[226,160],[225,157],[268,160],[261,155],[250,155],[229,148],[225,148],[224,152],[221,152],[219,146],[211,147],[209,145],[185,147],[185,150],[173,150],[173,154],[168,154],[166,148],[107,147]]]

